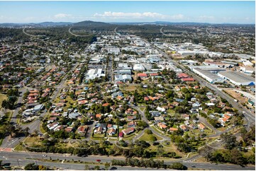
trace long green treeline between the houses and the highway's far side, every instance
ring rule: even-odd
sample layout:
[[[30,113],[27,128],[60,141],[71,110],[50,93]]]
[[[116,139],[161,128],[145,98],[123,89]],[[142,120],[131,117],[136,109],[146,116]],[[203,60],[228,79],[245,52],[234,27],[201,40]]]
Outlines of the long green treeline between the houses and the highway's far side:
[[[57,139],[44,140],[43,146],[26,147],[28,151],[45,152],[45,153],[69,153],[72,155],[87,156],[87,155],[123,155],[126,158],[153,158],[157,156],[165,156],[169,158],[179,158],[176,153],[163,153],[161,148],[157,147],[157,151],[147,150],[150,144],[145,141],[135,141],[128,146],[134,147],[133,149],[119,148],[118,146],[111,146],[108,141],[102,143],[87,143],[81,146],[81,148],[60,148],[57,147]],[[159,143],[158,143],[159,144]],[[158,145],[157,143],[155,146]],[[84,147],[84,148],[82,148]]]

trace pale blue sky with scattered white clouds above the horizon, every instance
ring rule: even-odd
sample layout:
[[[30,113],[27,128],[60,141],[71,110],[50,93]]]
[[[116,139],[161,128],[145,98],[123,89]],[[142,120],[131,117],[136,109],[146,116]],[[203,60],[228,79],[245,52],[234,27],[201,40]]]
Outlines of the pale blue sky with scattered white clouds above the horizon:
[[[0,1],[0,23],[255,23],[255,1]]]

